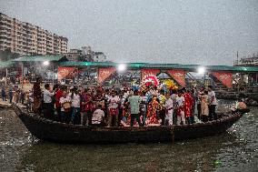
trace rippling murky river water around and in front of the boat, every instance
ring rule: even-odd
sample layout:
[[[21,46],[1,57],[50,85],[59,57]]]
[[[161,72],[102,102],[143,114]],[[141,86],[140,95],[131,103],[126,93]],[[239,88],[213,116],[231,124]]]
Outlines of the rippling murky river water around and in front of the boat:
[[[223,111],[233,102],[221,102]],[[172,143],[60,145],[33,141],[0,109],[0,171],[258,171],[258,108],[228,132]]]

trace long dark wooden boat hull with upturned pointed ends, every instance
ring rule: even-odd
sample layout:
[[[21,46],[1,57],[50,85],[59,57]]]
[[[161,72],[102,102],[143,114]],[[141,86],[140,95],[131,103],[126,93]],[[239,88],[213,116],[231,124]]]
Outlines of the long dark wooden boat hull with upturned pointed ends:
[[[165,142],[208,137],[225,132],[243,116],[222,115],[218,120],[183,126],[88,127],[55,122],[26,113],[12,105],[17,116],[33,136],[47,141],[73,144],[113,144],[128,142]]]

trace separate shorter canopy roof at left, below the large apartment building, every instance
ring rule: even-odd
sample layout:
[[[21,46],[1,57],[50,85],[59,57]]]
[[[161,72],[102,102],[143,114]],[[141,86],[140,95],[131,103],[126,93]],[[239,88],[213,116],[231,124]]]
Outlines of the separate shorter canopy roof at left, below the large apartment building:
[[[68,59],[65,56],[52,56],[52,55],[46,55],[46,56],[22,56],[20,58],[16,58],[15,62],[60,62],[60,61],[67,61]]]

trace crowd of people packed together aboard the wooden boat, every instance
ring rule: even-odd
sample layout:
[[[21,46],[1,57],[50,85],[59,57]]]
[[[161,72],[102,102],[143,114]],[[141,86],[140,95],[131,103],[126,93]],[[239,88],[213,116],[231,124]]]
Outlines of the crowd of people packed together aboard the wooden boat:
[[[172,126],[217,119],[213,86],[164,90],[138,88],[83,88],[45,84],[41,77],[33,88],[33,110],[40,116],[84,126]],[[197,117],[194,118],[195,105]]]

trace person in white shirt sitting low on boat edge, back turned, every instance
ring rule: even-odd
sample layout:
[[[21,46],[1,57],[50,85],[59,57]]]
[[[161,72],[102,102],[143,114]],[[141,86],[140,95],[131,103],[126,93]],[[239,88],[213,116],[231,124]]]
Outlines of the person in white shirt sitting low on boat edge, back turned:
[[[106,122],[104,120],[104,110],[102,110],[102,105],[96,106],[92,117],[92,126],[105,126]]]

